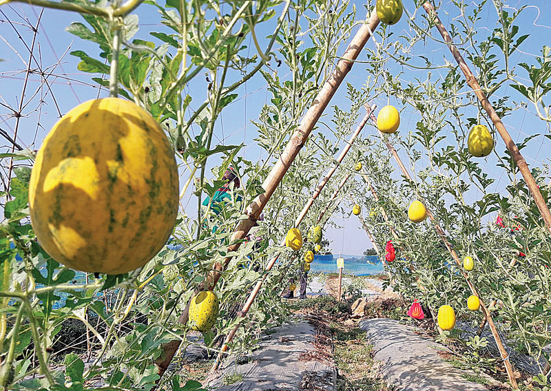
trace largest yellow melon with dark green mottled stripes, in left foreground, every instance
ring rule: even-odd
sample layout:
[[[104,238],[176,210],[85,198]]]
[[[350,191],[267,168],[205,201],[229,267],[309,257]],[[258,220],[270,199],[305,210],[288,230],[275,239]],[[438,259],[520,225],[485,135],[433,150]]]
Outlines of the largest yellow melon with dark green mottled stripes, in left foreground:
[[[118,98],[87,101],[44,139],[29,205],[39,243],[61,264],[132,271],[158,253],[176,222],[174,151],[138,105]]]

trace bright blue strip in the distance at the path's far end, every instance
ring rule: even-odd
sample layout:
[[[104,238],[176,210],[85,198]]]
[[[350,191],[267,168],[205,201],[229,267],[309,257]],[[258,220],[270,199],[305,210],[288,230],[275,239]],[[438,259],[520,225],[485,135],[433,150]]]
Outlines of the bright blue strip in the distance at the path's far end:
[[[323,273],[338,273],[337,258],[339,255],[314,255],[310,264],[311,271]],[[346,255],[344,258],[344,273],[353,275],[374,275],[384,273],[384,268],[377,255]]]

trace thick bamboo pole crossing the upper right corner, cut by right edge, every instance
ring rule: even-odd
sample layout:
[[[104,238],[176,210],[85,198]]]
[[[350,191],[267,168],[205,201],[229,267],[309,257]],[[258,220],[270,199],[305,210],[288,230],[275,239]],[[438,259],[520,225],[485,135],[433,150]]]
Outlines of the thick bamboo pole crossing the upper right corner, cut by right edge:
[[[477,78],[475,78],[475,75],[470,72],[470,69],[463,59],[463,56],[461,56],[459,50],[457,50],[457,48],[453,45],[451,36],[450,34],[448,34],[448,31],[444,27],[444,24],[442,24],[442,22],[440,21],[440,18],[438,17],[433,5],[426,1],[423,4],[423,8],[425,9],[428,16],[433,17],[437,22],[436,28],[440,32],[440,35],[442,36],[444,41],[448,44],[450,52],[452,52],[455,61],[457,61],[457,63],[459,64],[461,71],[463,71],[463,74],[467,79],[467,84],[475,92],[477,98],[480,101],[480,104],[482,105],[482,107],[484,107],[486,113],[488,113],[488,116],[490,116],[490,120],[492,120],[492,123],[497,129],[499,136],[503,138],[507,149],[509,150],[514,162],[517,164],[517,167],[519,167],[519,171],[521,171],[521,174],[526,181],[526,185],[528,186],[530,193],[532,193],[532,197],[534,198],[534,202],[536,202],[539,213],[541,213],[541,217],[543,218],[543,222],[545,222],[545,226],[547,226],[548,231],[551,233],[551,213],[549,212],[547,204],[545,204],[545,200],[543,200],[543,197],[541,196],[538,185],[536,184],[532,173],[530,173],[530,169],[528,168],[526,160],[524,160],[519,151],[519,148],[512,140],[507,129],[505,129],[505,126],[501,122],[501,118],[499,118],[499,116],[495,112],[494,107],[492,107],[492,104],[490,103],[490,101],[488,101],[488,97],[480,87]]]

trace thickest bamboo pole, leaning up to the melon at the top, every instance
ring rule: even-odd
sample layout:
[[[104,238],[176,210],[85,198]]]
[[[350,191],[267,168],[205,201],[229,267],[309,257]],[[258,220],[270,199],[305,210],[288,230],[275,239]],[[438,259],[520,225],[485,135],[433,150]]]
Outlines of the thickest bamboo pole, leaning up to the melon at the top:
[[[331,98],[333,98],[333,95],[344,80],[344,77],[352,69],[354,61],[357,59],[357,56],[360,55],[360,52],[362,52],[362,49],[371,36],[371,32],[377,28],[377,25],[379,25],[379,17],[377,17],[376,10],[373,9],[366,23],[364,23],[360,30],[357,31],[355,36],[353,36],[351,43],[348,45],[348,47],[346,47],[346,51],[344,52],[344,54],[342,54],[341,59],[337,62],[335,70],[333,70],[329,78],[325,81],[322,89],[320,89],[320,92],[318,92],[318,96],[315,97],[313,105],[308,109],[308,111],[300,121],[300,125],[298,125],[297,129],[293,133],[293,136],[291,136],[291,139],[287,143],[287,146],[282,152],[280,158],[272,167],[266,180],[264,180],[264,183],[262,184],[264,193],[258,195],[253,200],[253,202],[251,202],[249,207],[247,207],[247,211],[245,211],[245,213],[249,216],[249,218],[241,220],[236,229],[233,231],[233,235],[231,235],[231,241],[234,244],[231,244],[231,246],[228,247],[228,251],[236,251],[239,248],[241,244],[240,240],[245,238],[253,224],[255,224],[256,220],[258,220],[260,213],[262,213],[262,209],[264,209],[271,195],[275,192],[275,189],[277,189],[278,185],[280,184],[283,176],[285,175],[285,173],[287,173],[289,167],[291,167],[293,160],[298,155],[298,152],[306,142],[306,139],[310,135],[315,124],[318,122],[318,119],[320,118],[320,116],[322,116],[324,109],[327,107],[327,105],[329,105],[329,101],[331,101]],[[192,295],[191,297],[193,298],[200,290],[204,288],[214,288],[214,286],[218,282],[218,279],[220,279],[222,271],[224,271],[230,261],[231,257],[227,257],[223,264],[220,262],[216,262],[214,264],[213,270],[207,276],[206,282],[200,284],[200,286],[198,286],[198,288],[194,292],[194,295]],[[178,317],[178,322],[180,324],[186,324],[188,319],[189,302],[186,308],[183,310],[183,313],[180,315],[180,317]],[[233,334],[235,334],[235,332]],[[163,344],[163,355],[160,356],[160,359],[155,361],[158,368],[159,379],[167,370],[170,362],[172,361],[172,358],[176,354],[176,351],[178,351],[180,344],[180,339]]]

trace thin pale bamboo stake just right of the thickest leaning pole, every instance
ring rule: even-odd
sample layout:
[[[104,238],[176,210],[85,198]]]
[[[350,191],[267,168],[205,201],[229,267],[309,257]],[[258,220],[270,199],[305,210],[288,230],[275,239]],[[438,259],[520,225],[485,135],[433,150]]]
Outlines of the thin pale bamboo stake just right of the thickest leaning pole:
[[[357,137],[357,135],[360,134],[360,131],[362,131],[362,129],[364,129],[364,126],[366,125],[368,119],[371,118],[371,115],[373,114],[373,111],[375,110],[376,107],[377,107],[377,105],[373,105],[372,107],[366,106],[366,110],[367,110],[366,115],[364,116],[364,118],[362,118],[360,123],[357,125],[354,133],[352,134],[349,141],[347,142],[346,147],[344,147],[344,149],[342,150],[340,155],[337,157],[335,165],[333,167],[331,167],[331,169],[326,174],[326,176],[323,178],[323,180],[320,182],[320,184],[318,184],[318,187],[315,188],[315,191],[314,191],[313,195],[311,196],[311,198],[309,198],[308,202],[306,202],[306,204],[302,208],[302,211],[300,211],[300,213],[298,214],[298,218],[295,220],[295,224],[294,224],[295,228],[298,228],[298,226],[300,225],[300,223],[302,222],[302,220],[306,216],[306,213],[308,213],[308,211],[311,208],[311,206],[313,205],[314,201],[316,200],[316,198],[318,198],[318,195],[320,195],[320,193],[324,189],[327,182],[329,182],[329,179],[331,178],[331,176],[333,176],[333,173],[335,173],[335,171],[337,171],[337,168],[340,166],[340,163],[344,159],[344,156],[346,156],[346,154],[348,153],[348,151],[352,147],[352,144],[353,144],[355,138]],[[348,179],[348,177],[346,179]],[[346,180],[344,182],[346,182]],[[342,182],[339,189],[344,185],[344,182]],[[337,193],[338,193],[338,191],[337,191]],[[336,193],[335,193],[335,197],[336,197]],[[332,200],[333,200],[333,198],[331,199],[331,201]],[[320,221],[320,219],[318,219],[318,222],[319,221]],[[282,243],[280,245],[284,246],[285,245],[285,240],[282,240]],[[266,268],[264,269],[264,272],[271,271],[271,268],[273,267],[275,262],[278,261],[280,255],[281,255],[281,252],[278,252],[272,257],[272,259],[270,260],[270,262],[267,264]],[[253,304],[254,300],[256,299],[256,296],[258,295],[258,292],[260,291],[260,288],[262,288],[262,284],[264,284],[264,279],[266,279],[267,274],[268,273],[264,273],[264,275],[262,276],[262,279],[260,279],[256,283],[256,286],[251,291],[251,293],[249,295],[249,298],[247,299],[247,302],[245,302],[245,305],[239,311],[239,313],[238,313],[239,317],[245,317],[247,315],[247,313],[249,312],[249,309],[251,308],[251,305]],[[284,276],[282,276],[282,279],[283,279],[283,277]],[[220,350],[220,352],[218,352],[218,356],[216,357],[216,360],[214,361],[214,364],[211,368],[211,371],[215,371],[215,370],[218,369],[218,366],[220,365],[220,361],[222,361],[222,355],[224,354],[224,352],[227,351],[228,344],[233,340],[233,337],[235,337],[236,332],[239,329],[239,327],[240,327],[240,324],[237,324],[231,330],[231,332],[229,332],[229,334],[226,336],[226,339],[224,341],[224,345],[222,346],[222,349]]]

